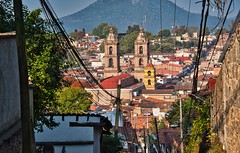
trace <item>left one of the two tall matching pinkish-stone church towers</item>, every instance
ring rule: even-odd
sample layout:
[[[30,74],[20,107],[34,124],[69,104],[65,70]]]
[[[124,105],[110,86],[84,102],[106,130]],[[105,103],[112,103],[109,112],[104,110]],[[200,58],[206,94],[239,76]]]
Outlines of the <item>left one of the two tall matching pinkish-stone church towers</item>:
[[[110,76],[117,76],[120,71],[119,63],[119,43],[117,36],[113,33],[113,29],[110,29],[108,37],[104,43],[105,50],[105,67],[104,78]]]

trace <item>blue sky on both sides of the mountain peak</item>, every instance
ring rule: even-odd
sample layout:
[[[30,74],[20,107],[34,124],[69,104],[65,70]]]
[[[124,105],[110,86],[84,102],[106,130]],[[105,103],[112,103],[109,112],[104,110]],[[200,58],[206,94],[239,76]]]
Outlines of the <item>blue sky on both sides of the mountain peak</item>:
[[[77,11],[80,11],[81,9],[89,6],[93,2],[97,0],[48,0],[50,4],[52,5],[54,11],[56,12],[58,17],[63,17],[70,15],[72,13],[75,13]],[[170,0],[172,2],[175,2],[175,0]],[[185,9],[188,10],[189,7],[189,1],[190,0],[176,0],[176,4]],[[193,13],[201,13],[201,3],[200,0],[191,0],[191,9],[190,12]],[[228,0],[229,1],[229,0]],[[29,10],[33,10],[36,8],[41,8],[39,0],[22,0],[24,5],[28,6]],[[235,17],[240,9],[240,0],[234,0],[234,9],[232,7],[231,10],[232,13],[229,14],[229,17]],[[211,8],[210,10],[211,15],[216,15],[217,10]]]

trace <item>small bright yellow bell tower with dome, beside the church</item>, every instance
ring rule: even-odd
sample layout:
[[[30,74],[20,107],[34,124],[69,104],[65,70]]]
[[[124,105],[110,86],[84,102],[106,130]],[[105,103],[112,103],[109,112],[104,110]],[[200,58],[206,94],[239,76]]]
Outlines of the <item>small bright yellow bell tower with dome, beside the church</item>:
[[[155,69],[152,63],[148,63],[144,68],[144,85],[147,90],[155,90],[156,87]]]

